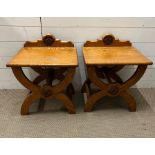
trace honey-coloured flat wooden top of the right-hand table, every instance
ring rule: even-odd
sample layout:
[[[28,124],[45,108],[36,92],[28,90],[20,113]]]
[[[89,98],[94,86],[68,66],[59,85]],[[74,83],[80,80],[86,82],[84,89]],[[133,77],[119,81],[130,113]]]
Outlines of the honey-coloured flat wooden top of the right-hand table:
[[[123,47],[83,47],[87,65],[140,65],[153,64],[136,48]]]

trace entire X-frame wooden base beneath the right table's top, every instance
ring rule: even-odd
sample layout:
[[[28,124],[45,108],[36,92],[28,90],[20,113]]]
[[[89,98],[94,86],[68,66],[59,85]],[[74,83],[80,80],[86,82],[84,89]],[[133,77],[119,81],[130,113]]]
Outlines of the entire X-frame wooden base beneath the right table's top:
[[[125,82],[117,75],[117,71],[124,66],[114,66],[113,68],[97,66],[87,66],[88,79],[85,81],[82,92],[87,94],[87,102],[84,111],[90,112],[93,110],[96,102],[104,96],[121,96],[128,104],[128,109],[131,112],[136,111],[136,102],[134,97],[128,92],[128,89],[133,86],[144,74],[147,65],[138,65],[135,73]],[[104,83],[100,78],[106,78],[108,83]],[[113,81],[114,82],[113,82]],[[99,91],[91,94],[91,83],[99,88]]]

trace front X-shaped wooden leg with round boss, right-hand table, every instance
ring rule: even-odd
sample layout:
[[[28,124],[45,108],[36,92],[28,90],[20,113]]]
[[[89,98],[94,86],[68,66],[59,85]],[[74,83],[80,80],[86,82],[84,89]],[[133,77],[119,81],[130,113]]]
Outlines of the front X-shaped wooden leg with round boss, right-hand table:
[[[121,96],[126,100],[129,111],[136,111],[136,102],[134,98],[129,94],[128,89],[143,76],[146,68],[147,65],[138,65],[135,73],[125,82],[120,81],[119,76],[115,74],[115,72],[114,74],[112,74],[113,72],[110,71],[109,75],[112,75],[110,76],[110,78],[115,79],[115,82],[107,84],[99,79],[96,73],[95,66],[88,66],[88,78],[93,84],[95,84],[99,88],[99,91],[88,97],[88,100],[85,104],[85,111],[92,111],[95,103],[103,96]],[[114,71],[117,71],[116,68],[114,69]]]

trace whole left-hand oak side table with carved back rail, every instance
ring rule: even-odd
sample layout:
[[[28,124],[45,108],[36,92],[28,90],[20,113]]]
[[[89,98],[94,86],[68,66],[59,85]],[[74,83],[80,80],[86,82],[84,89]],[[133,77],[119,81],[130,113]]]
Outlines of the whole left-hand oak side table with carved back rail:
[[[16,79],[30,90],[22,104],[21,115],[29,114],[29,107],[35,100],[52,98],[62,101],[69,113],[76,113],[71,96],[74,94],[72,79],[77,66],[77,51],[72,42],[55,39],[53,35],[26,42],[7,64]],[[22,67],[32,68],[38,76],[33,81],[29,80]],[[59,83],[54,84],[54,80]]]

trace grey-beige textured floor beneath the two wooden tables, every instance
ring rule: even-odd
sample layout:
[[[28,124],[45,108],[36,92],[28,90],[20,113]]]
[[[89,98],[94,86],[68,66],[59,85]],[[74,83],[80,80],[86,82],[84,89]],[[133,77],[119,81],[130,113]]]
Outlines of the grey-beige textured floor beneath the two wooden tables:
[[[0,137],[155,137],[155,89],[131,89],[137,112],[129,112],[121,98],[103,98],[93,112],[83,112],[83,97],[77,93],[77,114],[70,115],[55,100],[31,114],[20,115],[26,90],[0,90]]]

